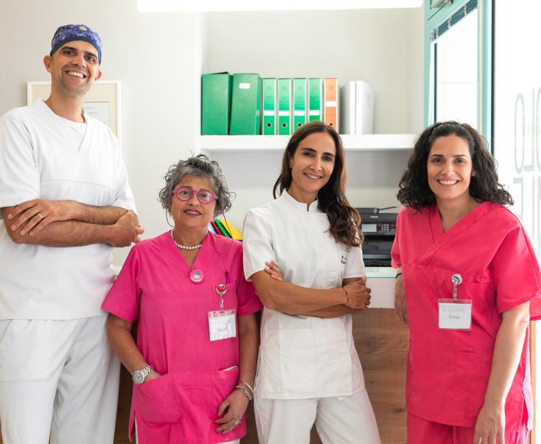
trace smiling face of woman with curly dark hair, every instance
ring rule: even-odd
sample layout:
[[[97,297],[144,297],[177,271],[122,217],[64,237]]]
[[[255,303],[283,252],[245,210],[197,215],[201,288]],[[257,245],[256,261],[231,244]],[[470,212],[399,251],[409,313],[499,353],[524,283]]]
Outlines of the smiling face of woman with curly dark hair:
[[[467,203],[470,180],[475,176],[470,149],[462,137],[438,137],[427,160],[428,184],[440,204]]]

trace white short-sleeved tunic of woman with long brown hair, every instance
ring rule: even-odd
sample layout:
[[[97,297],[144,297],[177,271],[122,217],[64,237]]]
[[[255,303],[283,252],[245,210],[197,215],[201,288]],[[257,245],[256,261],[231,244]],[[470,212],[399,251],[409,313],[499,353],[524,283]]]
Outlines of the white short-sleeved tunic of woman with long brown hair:
[[[365,275],[361,248],[338,244],[327,215],[309,211],[286,191],[246,214],[246,279],[275,260],[285,281],[312,289],[342,287]],[[350,314],[338,318],[291,316],[265,308],[257,370],[261,398],[304,399],[352,395],[364,388]]]

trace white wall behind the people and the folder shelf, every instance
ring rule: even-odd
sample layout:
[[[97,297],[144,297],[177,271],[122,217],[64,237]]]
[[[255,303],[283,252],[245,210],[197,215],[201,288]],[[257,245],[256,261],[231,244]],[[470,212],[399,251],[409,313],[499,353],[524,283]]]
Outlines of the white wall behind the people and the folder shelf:
[[[200,16],[141,13],[136,3],[0,0],[0,114],[26,104],[26,81],[49,80],[42,58],[58,26],[83,22],[98,31],[103,79],[122,81],[123,155],[145,238],[167,228],[156,200],[162,176],[195,150],[202,72],[365,79],[375,86],[377,133],[422,129],[422,8]],[[241,225],[248,208],[271,198],[280,155],[216,157],[237,191],[231,220]],[[395,203],[405,153],[348,159],[354,205]],[[126,254],[117,252],[115,263]]]

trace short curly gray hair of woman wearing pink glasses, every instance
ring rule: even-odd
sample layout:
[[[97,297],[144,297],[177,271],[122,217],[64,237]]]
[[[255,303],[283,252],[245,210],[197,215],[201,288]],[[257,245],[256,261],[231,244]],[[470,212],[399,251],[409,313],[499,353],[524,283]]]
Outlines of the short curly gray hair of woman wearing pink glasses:
[[[229,191],[222,169],[216,160],[210,160],[205,154],[188,157],[186,160],[180,160],[178,164],[171,165],[169,171],[164,176],[165,187],[160,189],[158,200],[162,203],[169,214],[171,214],[171,202],[173,200],[173,189],[178,185],[182,178],[189,174],[198,178],[206,178],[212,185],[212,191],[218,198],[216,199],[216,208],[214,216],[225,213],[231,208],[231,199],[234,192]]]

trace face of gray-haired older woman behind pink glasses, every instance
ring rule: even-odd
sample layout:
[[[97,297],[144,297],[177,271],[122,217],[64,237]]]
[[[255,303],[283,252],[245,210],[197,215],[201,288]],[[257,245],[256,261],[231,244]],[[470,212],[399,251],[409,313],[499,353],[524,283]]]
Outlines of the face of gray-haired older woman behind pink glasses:
[[[191,187],[194,191],[200,189],[206,189],[211,191],[212,194],[216,194],[216,191],[212,189],[211,182],[207,178],[199,178],[186,174],[182,177],[182,180],[175,185],[175,189],[180,187]],[[207,230],[209,222],[214,217],[214,210],[216,208],[216,200],[212,203],[203,204],[197,198],[197,192],[195,192],[189,200],[179,200],[176,196],[173,196],[171,200],[171,216],[175,221],[175,232],[182,230]]]

